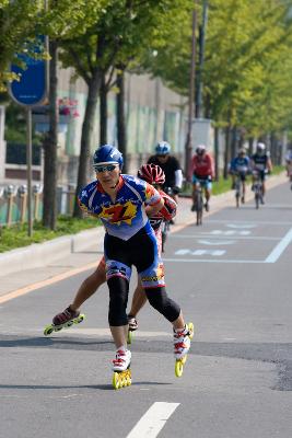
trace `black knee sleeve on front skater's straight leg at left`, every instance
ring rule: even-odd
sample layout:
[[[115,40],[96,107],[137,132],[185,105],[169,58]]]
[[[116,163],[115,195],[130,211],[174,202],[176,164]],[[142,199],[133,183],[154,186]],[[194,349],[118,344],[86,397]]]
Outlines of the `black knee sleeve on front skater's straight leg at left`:
[[[129,283],[122,277],[112,277],[107,280],[107,285],[109,289],[108,323],[113,326],[127,325]]]

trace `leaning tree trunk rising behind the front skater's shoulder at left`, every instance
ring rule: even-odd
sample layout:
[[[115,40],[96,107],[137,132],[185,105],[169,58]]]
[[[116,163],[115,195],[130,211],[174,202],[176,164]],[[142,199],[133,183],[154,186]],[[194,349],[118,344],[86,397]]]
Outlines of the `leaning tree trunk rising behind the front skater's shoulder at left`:
[[[89,83],[87,102],[86,102],[84,120],[82,125],[81,149],[80,149],[80,159],[78,169],[78,183],[77,183],[75,203],[73,210],[74,218],[82,218],[82,211],[77,203],[77,197],[80,189],[87,184],[87,180],[91,174],[90,172],[91,141],[94,128],[97,99],[101,90],[101,80],[102,80],[101,69],[96,68]]]

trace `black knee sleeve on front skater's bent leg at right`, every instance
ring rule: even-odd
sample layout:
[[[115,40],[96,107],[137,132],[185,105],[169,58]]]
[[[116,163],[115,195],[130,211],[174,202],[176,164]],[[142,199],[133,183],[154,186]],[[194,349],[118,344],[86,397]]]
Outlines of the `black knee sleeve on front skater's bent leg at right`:
[[[173,301],[166,293],[164,287],[145,289],[147,298],[150,304],[156,309],[170,322],[177,320],[180,313],[179,306]]]

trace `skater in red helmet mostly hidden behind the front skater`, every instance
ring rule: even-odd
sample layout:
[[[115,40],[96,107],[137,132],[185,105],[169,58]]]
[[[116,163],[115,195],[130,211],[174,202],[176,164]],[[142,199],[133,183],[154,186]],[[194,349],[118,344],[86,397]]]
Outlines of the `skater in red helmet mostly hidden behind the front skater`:
[[[138,177],[152,184],[157,188],[164,199],[164,206],[166,210],[161,210],[154,217],[150,218],[150,223],[155,232],[159,251],[161,254],[162,247],[162,232],[161,226],[163,220],[175,217],[176,215],[176,203],[172,197],[162,192],[161,186],[165,181],[165,175],[162,169],[155,164],[144,164],[138,171]],[[97,289],[106,281],[106,269],[105,258],[102,257],[97,268],[81,284],[73,302],[61,313],[58,313],[54,319],[55,325],[63,324],[80,314],[80,307],[86,301]],[[141,280],[138,277],[138,284],[133,292],[131,309],[128,314],[129,330],[135,331],[138,328],[137,314],[140,309],[144,306],[147,297],[141,285]]]

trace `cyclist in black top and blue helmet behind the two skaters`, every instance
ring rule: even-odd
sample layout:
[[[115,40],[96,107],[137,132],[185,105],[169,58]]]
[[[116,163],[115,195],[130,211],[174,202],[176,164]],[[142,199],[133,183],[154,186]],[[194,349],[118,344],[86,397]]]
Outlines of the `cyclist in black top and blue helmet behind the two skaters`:
[[[183,186],[183,171],[178,160],[171,154],[171,145],[167,141],[160,141],[155,147],[155,154],[151,155],[148,164],[157,164],[165,174],[163,189],[172,189],[174,200],[178,201],[178,193]]]

